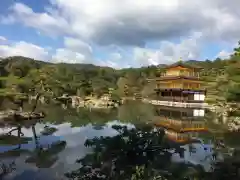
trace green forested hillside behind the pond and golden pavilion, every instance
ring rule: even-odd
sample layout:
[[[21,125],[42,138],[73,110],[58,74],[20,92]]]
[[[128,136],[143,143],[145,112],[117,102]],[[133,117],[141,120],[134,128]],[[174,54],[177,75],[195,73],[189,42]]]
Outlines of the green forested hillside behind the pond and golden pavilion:
[[[239,52],[240,48],[236,48],[225,60],[185,62],[203,67],[202,79],[208,90],[208,101],[240,101]],[[113,88],[113,93],[119,97],[133,96],[136,90],[147,96],[153,91],[146,79],[156,77],[164,67],[115,70],[92,64],[51,64],[26,57],[8,57],[0,61],[0,93],[2,99],[23,98],[41,91],[53,97],[63,94],[101,96]]]

